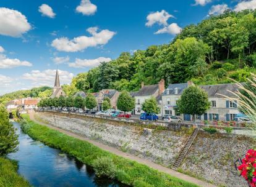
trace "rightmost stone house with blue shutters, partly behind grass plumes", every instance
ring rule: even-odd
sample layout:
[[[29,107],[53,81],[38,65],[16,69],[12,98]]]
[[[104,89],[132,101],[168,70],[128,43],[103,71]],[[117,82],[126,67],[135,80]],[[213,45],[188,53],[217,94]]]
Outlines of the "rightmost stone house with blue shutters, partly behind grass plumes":
[[[197,116],[198,119],[210,121],[236,120],[235,117],[239,113],[236,102],[229,101],[225,97],[221,96],[226,95],[228,97],[234,97],[231,92],[236,92],[238,89],[236,84],[217,84],[200,87],[208,93],[208,98],[211,102],[211,108],[208,109],[207,113],[203,114],[202,116]]]

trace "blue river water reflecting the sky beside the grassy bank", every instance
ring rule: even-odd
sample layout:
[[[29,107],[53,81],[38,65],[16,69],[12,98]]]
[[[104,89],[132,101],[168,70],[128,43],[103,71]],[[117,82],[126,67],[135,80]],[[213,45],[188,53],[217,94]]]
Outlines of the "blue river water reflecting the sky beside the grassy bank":
[[[95,177],[92,169],[74,157],[33,140],[20,130],[17,122],[13,124],[19,133],[20,144],[19,151],[9,154],[9,158],[19,161],[18,172],[31,185],[35,187],[126,186],[116,181]]]

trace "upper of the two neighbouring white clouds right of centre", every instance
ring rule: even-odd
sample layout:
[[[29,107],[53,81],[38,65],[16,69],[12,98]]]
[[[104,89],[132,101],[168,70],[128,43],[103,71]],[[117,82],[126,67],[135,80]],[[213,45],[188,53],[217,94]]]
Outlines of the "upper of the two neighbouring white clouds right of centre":
[[[170,17],[174,18],[173,15],[169,14],[165,10],[161,10],[161,12],[159,12],[159,11],[152,12],[152,13],[148,14],[148,16],[147,16],[146,26],[152,26],[155,23],[158,23],[158,25],[168,25],[167,20]]]

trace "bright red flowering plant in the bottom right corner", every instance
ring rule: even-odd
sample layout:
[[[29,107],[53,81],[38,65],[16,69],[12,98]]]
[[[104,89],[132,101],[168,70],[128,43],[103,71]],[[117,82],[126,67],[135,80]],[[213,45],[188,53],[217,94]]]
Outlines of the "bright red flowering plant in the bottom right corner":
[[[256,187],[256,149],[249,149],[240,162],[237,169],[242,177],[248,181],[250,187]]]

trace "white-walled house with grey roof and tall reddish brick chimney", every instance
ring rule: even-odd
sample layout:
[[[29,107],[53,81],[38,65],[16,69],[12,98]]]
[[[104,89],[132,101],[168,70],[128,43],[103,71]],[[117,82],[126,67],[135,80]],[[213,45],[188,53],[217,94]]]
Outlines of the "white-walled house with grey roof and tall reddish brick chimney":
[[[142,111],[142,103],[148,98],[158,98],[159,95],[164,92],[164,79],[161,79],[158,84],[144,86],[142,82],[141,88],[138,92],[132,92],[132,96],[135,98],[135,109],[134,114],[140,115]]]

